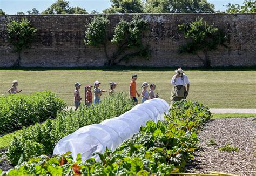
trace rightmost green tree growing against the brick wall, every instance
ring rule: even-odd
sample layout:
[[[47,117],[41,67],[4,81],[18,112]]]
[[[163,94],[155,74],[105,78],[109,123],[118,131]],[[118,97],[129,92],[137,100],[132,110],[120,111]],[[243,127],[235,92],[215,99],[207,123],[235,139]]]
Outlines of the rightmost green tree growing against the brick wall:
[[[226,36],[223,30],[214,28],[214,24],[203,22],[203,18],[198,18],[191,23],[183,23],[178,25],[179,30],[189,39],[187,44],[179,49],[179,53],[196,54],[203,62],[205,67],[211,66],[208,52],[217,49],[218,45],[224,45]],[[204,58],[198,55],[198,51],[203,51]]]

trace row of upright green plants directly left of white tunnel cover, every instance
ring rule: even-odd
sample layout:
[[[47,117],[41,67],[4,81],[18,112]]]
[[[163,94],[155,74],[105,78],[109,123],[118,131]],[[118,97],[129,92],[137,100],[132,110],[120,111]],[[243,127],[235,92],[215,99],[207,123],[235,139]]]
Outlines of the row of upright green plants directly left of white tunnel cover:
[[[77,111],[58,113],[54,120],[46,120],[23,130],[14,137],[6,154],[11,164],[17,165],[32,156],[52,154],[54,146],[63,137],[78,128],[98,124],[105,119],[119,116],[132,108],[132,100],[118,93],[106,97],[94,106],[80,106]]]

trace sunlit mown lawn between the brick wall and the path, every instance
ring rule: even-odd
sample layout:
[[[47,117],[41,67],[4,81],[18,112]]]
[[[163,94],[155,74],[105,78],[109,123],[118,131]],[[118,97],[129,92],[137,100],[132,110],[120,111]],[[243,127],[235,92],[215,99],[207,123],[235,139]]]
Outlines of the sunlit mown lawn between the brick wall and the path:
[[[99,80],[101,89],[109,90],[109,82],[118,83],[116,92],[129,92],[131,75],[136,73],[137,91],[143,82],[157,85],[159,98],[170,103],[173,69],[104,69],[104,70],[0,70],[0,95],[7,95],[12,80],[18,80],[18,89],[23,94],[51,90],[73,105],[74,83],[80,82],[80,94],[84,97],[84,86]],[[191,82],[188,100],[198,100],[209,107],[256,108],[256,70],[185,70]],[[104,93],[103,96],[106,96]]]

